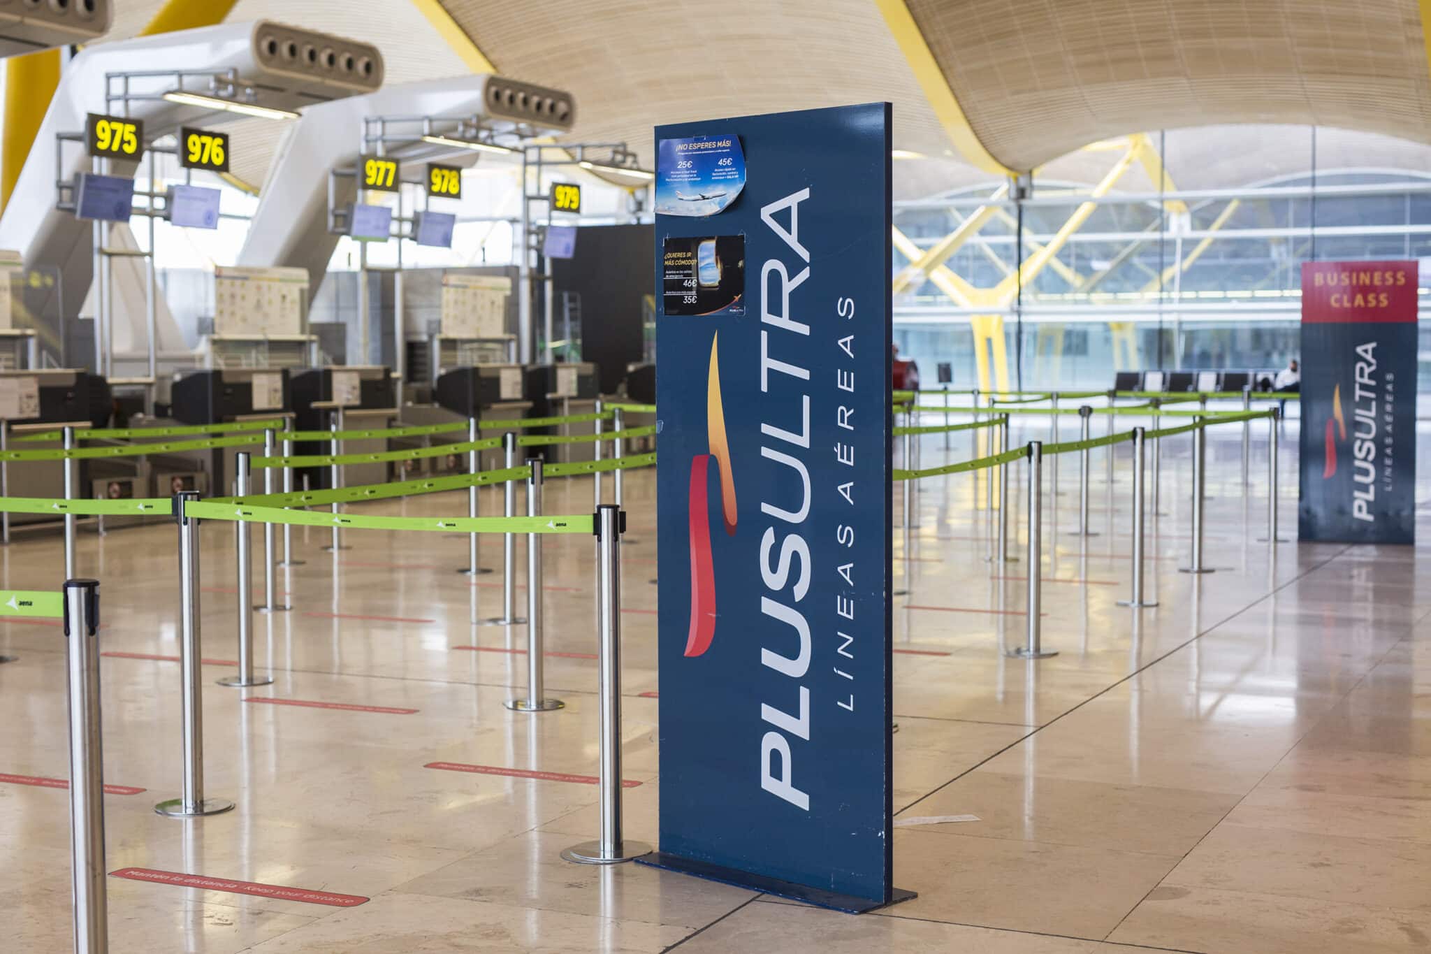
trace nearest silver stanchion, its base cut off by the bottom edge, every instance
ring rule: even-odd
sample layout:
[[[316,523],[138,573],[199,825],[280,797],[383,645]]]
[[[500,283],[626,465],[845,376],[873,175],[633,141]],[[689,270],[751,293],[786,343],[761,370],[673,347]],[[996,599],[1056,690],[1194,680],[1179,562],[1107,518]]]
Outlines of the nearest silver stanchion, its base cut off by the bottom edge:
[[[104,897],[104,751],[99,692],[99,581],[64,581],[70,711],[70,857],[74,951],[109,950]]]

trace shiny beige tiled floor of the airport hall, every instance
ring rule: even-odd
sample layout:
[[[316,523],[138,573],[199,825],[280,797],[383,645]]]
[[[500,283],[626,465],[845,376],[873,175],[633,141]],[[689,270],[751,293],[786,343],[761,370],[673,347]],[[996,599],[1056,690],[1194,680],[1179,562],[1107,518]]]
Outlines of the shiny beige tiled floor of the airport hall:
[[[1046,425],[1020,422],[1019,439]],[[1076,536],[1075,458],[1045,519],[1042,638],[1025,638],[1027,566],[986,562],[983,479],[930,481],[903,559],[896,532],[896,884],[919,898],[850,917],[653,868],[587,868],[561,848],[597,830],[588,784],[425,768],[597,769],[592,546],[548,541],[547,685],[560,712],[502,707],[525,685],[524,626],[499,574],[456,574],[465,538],[298,531],[290,612],[255,616],[253,689],[233,672],[233,529],[203,528],[206,788],[236,811],[153,814],[179,790],[175,529],[82,535],[103,581],[107,867],[371,898],[328,907],[109,878],[114,951],[1414,951],[1431,947],[1431,561],[1411,549],[1269,548],[1264,428],[1251,486],[1239,428],[1209,441],[1206,562],[1191,548],[1188,439],[1169,439],[1149,536],[1149,595],[1128,595],[1129,453],[1092,459]],[[1295,538],[1295,425],[1282,441],[1281,532]],[[969,435],[927,438],[923,465]],[[1022,538],[1023,473],[1010,503]],[[610,486],[608,486],[610,492]],[[627,827],[655,840],[653,473],[627,481]],[[896,495],[896,502],[899,496]],[[548,512],[590,509],[590,479],[548,485]],[[461,513],[459,495],[372,512]],[[484,512],[497,498],[484,496]],[[896,513],[899,508],[896,506]],[[1431,528],[1422,526],[1422,531]],[[259,538],[255,536],[258,549]],[[1022,556],[1022,546],[1013,548]],[[498,539],[482,561],[501,565]],[[56,536],[0,551],[0,579],[54,588]],[[262,575],[256,575],[262,585]],[[63,778],[60,631],[0,622],[0,775]],[[152,658],[159,657],[159,658]],[[398,711],[245,702],[250,697]],[[404,709],[415,709],[406,712]],[[937,821],[972,815],[969,821]],[[70,944],[67,800],[0,781],[0,948]]]

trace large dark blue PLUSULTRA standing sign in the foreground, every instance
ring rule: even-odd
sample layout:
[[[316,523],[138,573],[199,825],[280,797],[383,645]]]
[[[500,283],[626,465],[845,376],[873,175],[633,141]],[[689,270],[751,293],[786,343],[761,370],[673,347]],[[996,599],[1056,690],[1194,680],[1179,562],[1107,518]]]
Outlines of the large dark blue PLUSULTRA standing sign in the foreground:
[[[744,189],[655,219],[660,851],[850,911],[890,884],[890,107],[655,130]],[[680,162],[678,159],[674,159]]]

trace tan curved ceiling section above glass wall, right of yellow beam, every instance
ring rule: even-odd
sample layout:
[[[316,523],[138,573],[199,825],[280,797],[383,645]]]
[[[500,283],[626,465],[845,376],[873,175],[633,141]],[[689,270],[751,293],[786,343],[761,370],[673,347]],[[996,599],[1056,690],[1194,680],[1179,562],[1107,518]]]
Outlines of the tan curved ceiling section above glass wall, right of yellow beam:
[[[1431,142],[1417,0],[907,0],[985,147],[1033,169],[1141,129],[1307,123]]]

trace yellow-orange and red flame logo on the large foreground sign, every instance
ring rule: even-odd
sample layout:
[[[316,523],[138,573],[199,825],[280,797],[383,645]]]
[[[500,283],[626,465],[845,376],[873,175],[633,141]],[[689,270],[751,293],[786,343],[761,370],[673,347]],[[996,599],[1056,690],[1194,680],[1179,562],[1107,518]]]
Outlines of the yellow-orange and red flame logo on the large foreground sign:
[[[685,655],[698,657],[716,638],[716,561],[711,555],[710,501],[707,472],[711,458],[720,471],[721,516],[726,535],[736,535],[736,476],[730,463],[726,436],[726,409],[720,396],[718,336],[711,336],[711,360],[705,373],[705,436],[708,453],[691,458],[690,541],[691,541],[691,626],[685,636]]]

